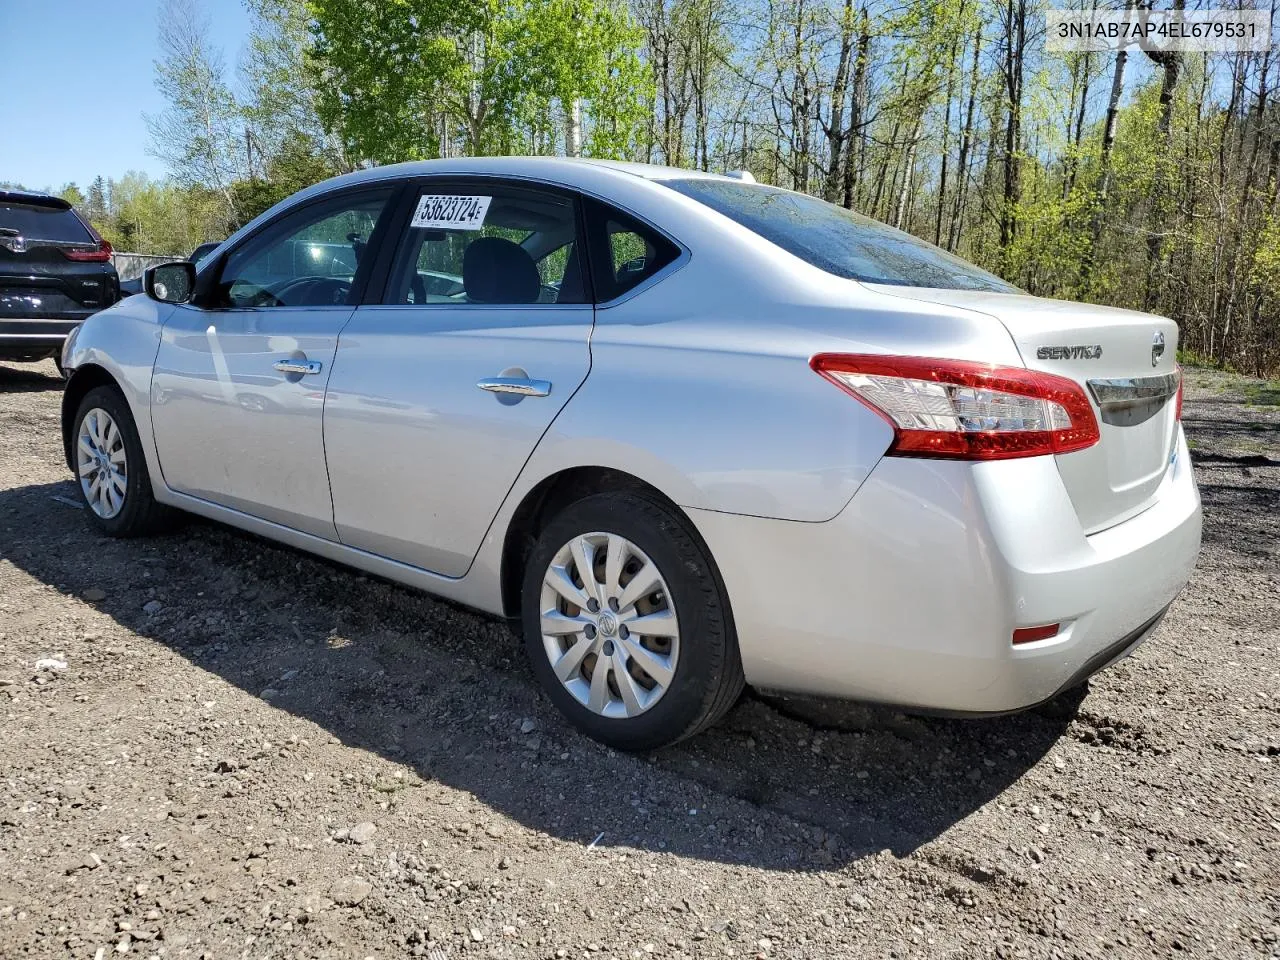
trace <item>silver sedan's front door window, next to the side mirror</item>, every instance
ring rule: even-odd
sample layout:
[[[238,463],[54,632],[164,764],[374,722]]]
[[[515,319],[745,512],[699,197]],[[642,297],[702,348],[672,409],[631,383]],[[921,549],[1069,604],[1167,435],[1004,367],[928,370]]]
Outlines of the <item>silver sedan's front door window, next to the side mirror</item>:
[[[356,270],[390,191],[307,205],[237,247],[218,279],[224,307],[353,302]]]

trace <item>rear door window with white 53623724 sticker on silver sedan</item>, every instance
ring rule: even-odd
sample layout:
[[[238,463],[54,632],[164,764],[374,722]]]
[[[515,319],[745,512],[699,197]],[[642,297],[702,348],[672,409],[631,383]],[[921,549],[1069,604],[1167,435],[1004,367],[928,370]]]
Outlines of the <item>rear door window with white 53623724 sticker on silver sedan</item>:
[[[536,189],[426,187],[388,303],[585,303],[573,201]]]

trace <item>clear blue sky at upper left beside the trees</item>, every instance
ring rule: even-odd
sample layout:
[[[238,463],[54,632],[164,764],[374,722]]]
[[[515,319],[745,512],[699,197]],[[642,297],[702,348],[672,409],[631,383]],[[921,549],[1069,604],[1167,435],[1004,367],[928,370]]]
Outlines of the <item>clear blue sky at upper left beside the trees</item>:
[[[241,0],[200,0],[234,78],[248,35]],[[96,175],[165,174],[147,154],[160,0],[0,0],[0,180],[86,187]]]

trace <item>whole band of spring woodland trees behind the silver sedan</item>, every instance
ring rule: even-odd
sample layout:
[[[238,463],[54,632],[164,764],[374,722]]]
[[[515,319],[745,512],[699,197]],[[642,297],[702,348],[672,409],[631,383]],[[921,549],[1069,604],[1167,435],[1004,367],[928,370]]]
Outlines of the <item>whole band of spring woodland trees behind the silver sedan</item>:
[[[77,193],[113,243],[179,252],[369,164],[568,152],[580,116],[585,155],[750,169],[1030,293],[1171,316],[1220,367],[1280,367],[1267,54],[1132,50],[1119,70],[1047,54],[1024,0],[243,3],[229,76],[198,0],[164,0],[172,179]]]

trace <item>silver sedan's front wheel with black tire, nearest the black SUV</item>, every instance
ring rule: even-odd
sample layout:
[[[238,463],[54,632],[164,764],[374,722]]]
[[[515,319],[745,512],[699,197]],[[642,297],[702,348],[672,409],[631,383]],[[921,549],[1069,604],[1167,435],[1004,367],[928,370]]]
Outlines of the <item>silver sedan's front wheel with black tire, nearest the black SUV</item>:
[[[155,499],[133,413],[115,387],[84,394],[72,444],[76,485],[93,526],[108,536],[147,536],[169,525],[173,511]]]

